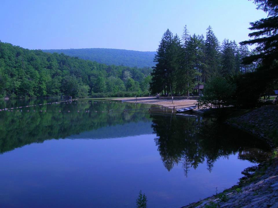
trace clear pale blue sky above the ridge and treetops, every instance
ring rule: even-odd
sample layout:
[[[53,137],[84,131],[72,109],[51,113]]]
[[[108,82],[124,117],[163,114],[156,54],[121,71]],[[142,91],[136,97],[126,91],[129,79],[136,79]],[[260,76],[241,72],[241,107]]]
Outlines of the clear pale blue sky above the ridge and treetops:
[[[248,0],[1,0],[2,42],[29,49],[118,48],[155,51],[169,28],[220,42],[248,39],[249,22],[266,17]]]

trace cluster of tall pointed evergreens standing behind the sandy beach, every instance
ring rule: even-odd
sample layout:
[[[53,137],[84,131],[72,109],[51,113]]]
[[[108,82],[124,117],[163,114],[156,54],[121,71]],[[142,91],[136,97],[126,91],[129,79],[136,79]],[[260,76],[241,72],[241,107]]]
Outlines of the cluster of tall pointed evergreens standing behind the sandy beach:
[[[242,64],[242,59],[254,51],[235,41],[218,41],[211,26],[203,35],[190,35],[186,26],[182,39],[168,29],[162,36],[155,56],[151,91],[170,93],[170,85],[175,94],[189,96],[196,85],[209,82],[214,76],[234,76],[253,72],[256,63]]]

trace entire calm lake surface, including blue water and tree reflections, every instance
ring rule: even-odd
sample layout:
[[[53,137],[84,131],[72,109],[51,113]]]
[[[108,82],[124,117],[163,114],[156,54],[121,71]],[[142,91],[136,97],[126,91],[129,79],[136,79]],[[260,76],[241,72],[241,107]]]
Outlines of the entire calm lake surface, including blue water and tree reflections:
[[[0,112],[0,207],[136,207],[142,190],[148,207],[178,208],[235,185],[267,151],[211,118],[93,102]]]

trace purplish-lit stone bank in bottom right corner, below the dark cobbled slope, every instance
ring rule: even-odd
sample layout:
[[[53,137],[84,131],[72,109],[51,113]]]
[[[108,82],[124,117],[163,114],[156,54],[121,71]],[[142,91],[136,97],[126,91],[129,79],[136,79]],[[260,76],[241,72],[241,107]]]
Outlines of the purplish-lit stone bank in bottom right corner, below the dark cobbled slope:
[[[278,157],[261,163],[239,185],[182,208],[278,207]]]

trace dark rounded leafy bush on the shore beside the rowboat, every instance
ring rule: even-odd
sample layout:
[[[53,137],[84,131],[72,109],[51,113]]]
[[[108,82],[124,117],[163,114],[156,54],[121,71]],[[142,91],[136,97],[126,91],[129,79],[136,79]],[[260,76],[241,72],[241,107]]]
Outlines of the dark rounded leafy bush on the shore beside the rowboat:
[[[220,108],[233,105],[235,85],[221,77],[214,77],[205,85],[204,95],[198,99],[201,107]]]

